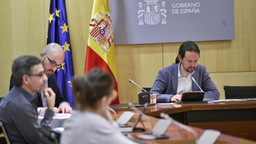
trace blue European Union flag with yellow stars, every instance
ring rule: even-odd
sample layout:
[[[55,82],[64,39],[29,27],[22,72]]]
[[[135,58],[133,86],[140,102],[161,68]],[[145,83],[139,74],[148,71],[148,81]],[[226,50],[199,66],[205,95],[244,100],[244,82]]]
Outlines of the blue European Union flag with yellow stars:
[[[74,100],[68,81],[74,76],[74,69],[65,0],[51,0],[47,36],[47,44],[58,43],[65,52],[62,68],[56,70],[55,74],[63,97],[73,108]]]

